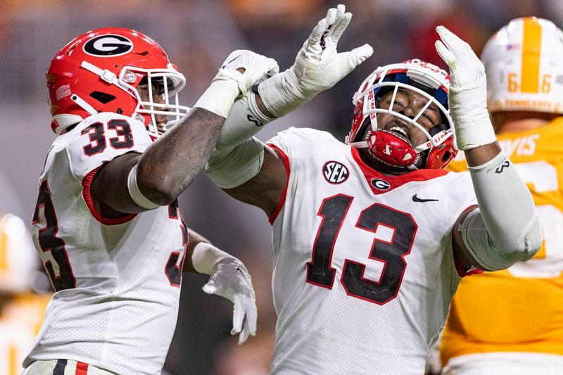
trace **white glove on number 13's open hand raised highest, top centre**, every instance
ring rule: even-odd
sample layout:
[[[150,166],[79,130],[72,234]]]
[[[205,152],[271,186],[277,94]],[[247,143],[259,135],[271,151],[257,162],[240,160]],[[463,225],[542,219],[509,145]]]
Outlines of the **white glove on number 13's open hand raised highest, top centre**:
[[[291,112],[320,91],[333,87],[372,56],[369,44],[348,52],[336,51],[351,18],[352,13],[346,13],[342,4],[330,8],[327,17],[317,23],[301,47],[293,66],[258,86],[258,93],[272,115],[281,117]]]

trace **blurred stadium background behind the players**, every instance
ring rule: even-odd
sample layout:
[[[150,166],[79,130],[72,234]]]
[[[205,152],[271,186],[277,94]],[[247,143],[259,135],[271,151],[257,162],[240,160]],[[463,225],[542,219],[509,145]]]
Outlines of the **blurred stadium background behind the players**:
[[[336,87],[269,125],[258,134],[260,139],[268,139],[289,126],[326,129],[343,139],[352,117],[352,95],[374,68],[415,57],[444,67],[434,51],[436,25],[449,27],[477,53],[492,32],[515,17],[537,15],[553,20],[559,27],[563,25],[563,1],[559,0],[343,2],[354,17],[339,50],[369,43],[374,47],[374,55]],[[4,85],[0,91],[0,215],[12,213],[26,225],[31,221],[37,178],[55,138],[49,128],[44,72],[54,54],[72,37],[109,26],[129,27],[148,34],[186,75],[188,83],[180,96],[183,103],[191,105],[234,49],[252,49],[277,59],[281,70],[289,68],[317,20],[337,3],[0,0],[0,82]],[[241,347],[236,345],[236,338],[229,336],[231,304],[201,291],[206,277],[186,275],[166,371],[174,375],[267,374],[274,344],[275,313],[270,288],[270,226],[266,216],[232,200],[203,176],[181,196],[180,205],[190,227],[246,262],[257,294],[258,335]],[[0,228],[0,240],[2,236],[14,236],[6,228]],[[8,242],[0,241],[0,247]],[[21,251],[24,250],[28,248],[22,245]],[[10,295],[0,298],[0,320],[5,313],[1,309],[9,298]],[[2,371],[7,370],[0,368],[0,374]]]

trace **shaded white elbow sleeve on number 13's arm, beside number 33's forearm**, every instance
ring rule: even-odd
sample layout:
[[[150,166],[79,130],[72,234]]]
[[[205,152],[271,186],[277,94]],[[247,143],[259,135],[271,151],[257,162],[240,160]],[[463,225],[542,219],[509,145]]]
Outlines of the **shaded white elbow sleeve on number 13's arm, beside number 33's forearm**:
[[[235,148],[215,148],[203,172],[222,189],[240,186],[254,177],[264,162],[264,144],[252,137]]]

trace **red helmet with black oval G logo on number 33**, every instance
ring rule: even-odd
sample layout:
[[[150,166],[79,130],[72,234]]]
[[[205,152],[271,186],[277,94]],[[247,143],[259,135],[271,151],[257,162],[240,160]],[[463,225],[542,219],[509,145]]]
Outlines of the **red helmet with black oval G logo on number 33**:
[[[46,80],[56,134],[99,112],[133,117],[156,132],[154,115],[171,116],[167,125],[174,125],[189,110],[178,104],[184,75],[153,39],[134,30],[107,27],[76,37],[53,58]],[[140,83],[148,84],[148,101],[137,92]],[[165,103],[153,102],[153,84]]]

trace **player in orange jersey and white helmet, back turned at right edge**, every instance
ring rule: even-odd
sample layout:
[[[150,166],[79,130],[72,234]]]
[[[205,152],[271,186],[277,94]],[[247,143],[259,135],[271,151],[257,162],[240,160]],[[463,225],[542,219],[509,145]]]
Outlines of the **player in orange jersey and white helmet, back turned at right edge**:
[[[441,341],[443,374],[563,373],[563,31],[516,18],[481,55],[498,141],[529,183],[543,246],[526,263],[464,279]],[[451,170],[465,170],[463,158]]]

